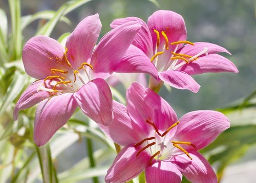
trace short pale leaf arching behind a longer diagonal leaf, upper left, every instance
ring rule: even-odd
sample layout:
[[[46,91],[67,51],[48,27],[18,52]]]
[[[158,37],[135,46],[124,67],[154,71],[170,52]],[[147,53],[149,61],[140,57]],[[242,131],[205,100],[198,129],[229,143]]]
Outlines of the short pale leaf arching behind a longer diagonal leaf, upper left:
[[[37,19],[52,19],[55,15],[55,11],[47,10],[47,11],[40,11],[33,15],[27,15],[22,17],[22,30],[24,30],[31,22],[37,20]],[[62,16],[60,18],[60,21],[66,22],[66,24],[71,24],[71,21],[65,17]]]

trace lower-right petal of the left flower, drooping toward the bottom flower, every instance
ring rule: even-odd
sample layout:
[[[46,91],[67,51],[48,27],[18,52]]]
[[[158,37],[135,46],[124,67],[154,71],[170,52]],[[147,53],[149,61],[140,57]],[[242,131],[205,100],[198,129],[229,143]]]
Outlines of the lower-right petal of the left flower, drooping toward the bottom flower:
[[[112,122],[112,94],[105,80],[89,81],[76,91],[74,97],[82,111],[96,123],[109,125]]]

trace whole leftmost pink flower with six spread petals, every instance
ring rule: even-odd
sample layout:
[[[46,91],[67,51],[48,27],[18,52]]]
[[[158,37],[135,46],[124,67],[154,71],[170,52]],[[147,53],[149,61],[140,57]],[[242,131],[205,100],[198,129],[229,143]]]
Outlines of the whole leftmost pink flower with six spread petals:
[[[118,66],[141,28],[130,21],[113,29],[97,42],[99,15],[84,18],[69,36],[66,49],[47,36],[31,38],[23,49],[27,74],[38,79],[24,91],[13,112],[39,103],[34,125],[34,141],[46,144],[67,123],[79,106],[95,122],[109,125],[113,120],[112,94],[105,79]]]

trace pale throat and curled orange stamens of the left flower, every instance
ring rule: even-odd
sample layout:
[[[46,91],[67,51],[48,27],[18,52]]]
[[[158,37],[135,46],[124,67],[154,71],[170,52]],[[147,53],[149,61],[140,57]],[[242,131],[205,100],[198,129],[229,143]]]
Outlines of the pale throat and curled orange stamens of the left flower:
[[[44,81],[50,80],[53,81],[54,84],[50,86],[46,86],[46,84],[40,85],[37,91],[45,90],[52,93],[75,93],[83,84],[91,80],[93,66],[87,62],[83,62],[77,70],[74,70],[67,58],[67,52],[68,49],[66,48],[62,59],[70,68],[69,71],[52,68],[51,73],[53,75],[46,77]]]

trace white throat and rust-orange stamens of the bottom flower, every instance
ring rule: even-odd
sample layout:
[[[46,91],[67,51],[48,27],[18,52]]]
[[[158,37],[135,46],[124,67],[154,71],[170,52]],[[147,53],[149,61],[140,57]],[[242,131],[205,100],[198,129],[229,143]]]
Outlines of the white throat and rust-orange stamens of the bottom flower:
[[[192,160],[192,157],[189,155],[189,153],[180,145],[189,145],[196,148],[195,145],[191,144],[190,142],[171,141],[168,138],[166,138],[166,134],[171,129],[176,127],[180,123],[179,121],[174,123],[163,133],[159,132],[157,126],[153,122],[151,122],[151,119],[146,119],[145,122],[154,128],[154,136],[145,138],[134,145],[134,147],[142,147],[144,145],[137,152],[136,156],[138,156],[142,151],[146,150],[148,153],[152,155],[150,158],[151,164],[154,159],[170,159],[170,157],[181,151],[184,152],[188,156],[188,158]]]

